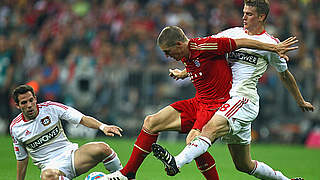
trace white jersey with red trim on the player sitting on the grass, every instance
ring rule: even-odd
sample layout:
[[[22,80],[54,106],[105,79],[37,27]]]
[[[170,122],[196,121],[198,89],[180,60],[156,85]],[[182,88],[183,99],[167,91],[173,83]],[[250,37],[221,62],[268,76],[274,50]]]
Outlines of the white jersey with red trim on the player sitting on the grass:
[[[57,102],[47,101],[37,104],[38,116],[26,121],[22,113],[10,125],[13,147],[17,160],[28,155],[39,168],[50,159],[65,152],[73,144],[67,139],[61,120],[79,124],[84,116],[76,109]]]

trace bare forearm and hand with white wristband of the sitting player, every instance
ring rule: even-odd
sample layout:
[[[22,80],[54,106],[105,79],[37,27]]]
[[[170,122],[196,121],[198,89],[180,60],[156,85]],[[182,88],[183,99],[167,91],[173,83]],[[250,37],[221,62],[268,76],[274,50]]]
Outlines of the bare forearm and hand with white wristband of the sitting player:
[[[100,129],[107,136],[114,136],[115,134],[118,136],[122,136],[121,135],[122,129],[120,127],[103,124],[102,122],[90,116],[83,116],[80,121],[80,124],[87,126],[89,128]]]

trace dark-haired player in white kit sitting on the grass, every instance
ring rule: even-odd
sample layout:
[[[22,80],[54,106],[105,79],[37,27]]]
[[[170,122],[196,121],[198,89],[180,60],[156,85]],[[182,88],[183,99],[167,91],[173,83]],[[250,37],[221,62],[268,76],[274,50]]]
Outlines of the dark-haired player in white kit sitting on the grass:
[[[47,101],[37,104],[31,86],[20,85],[13,90],[13,99],[20,113],[10,125],[17,159],[17,180],[25,179],[29,156],[41,169],[42,180],[73,179],[86,173],[99,162],[114,172],[122,169],[117,154],[104,142],[92,142],[78,147],[71,143],[61,120],[100,129],[108,136],[121,136],[122,129],[106,125],[93,117],[60,103]]]

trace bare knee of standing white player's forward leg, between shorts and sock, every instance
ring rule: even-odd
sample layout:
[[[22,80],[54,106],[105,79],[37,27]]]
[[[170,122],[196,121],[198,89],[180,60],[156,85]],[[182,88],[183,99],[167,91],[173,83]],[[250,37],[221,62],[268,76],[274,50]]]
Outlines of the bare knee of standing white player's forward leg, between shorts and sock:
[[[203,127],[201,135],[209,137],[211,141],[226,135],[230,130],[228,120],[223,116],[215,114]]]

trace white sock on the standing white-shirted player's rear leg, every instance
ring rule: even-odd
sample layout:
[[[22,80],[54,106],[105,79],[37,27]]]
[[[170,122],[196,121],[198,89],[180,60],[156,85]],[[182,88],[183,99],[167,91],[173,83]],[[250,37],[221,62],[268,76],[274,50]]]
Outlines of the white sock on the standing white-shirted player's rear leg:
[[[256,167],[250,174],[256,178],[265,180],[290,180],[280,171],[274,171],[270,166],[258,161],[256,161]]]

